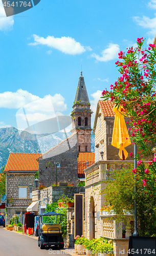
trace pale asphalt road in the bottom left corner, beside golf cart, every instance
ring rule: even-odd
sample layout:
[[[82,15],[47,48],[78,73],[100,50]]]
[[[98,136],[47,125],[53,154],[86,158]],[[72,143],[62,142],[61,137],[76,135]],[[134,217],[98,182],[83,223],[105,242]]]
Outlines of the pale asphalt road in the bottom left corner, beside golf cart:
[[[49,249],[52,249],[49,251]],[[69,254],[59,250],[58,247],[50,247],[41,250],[37,245],[37,240],[24,236],[18,232],[9,231],[0,227],[0,255],[1,256],[44,256]]]

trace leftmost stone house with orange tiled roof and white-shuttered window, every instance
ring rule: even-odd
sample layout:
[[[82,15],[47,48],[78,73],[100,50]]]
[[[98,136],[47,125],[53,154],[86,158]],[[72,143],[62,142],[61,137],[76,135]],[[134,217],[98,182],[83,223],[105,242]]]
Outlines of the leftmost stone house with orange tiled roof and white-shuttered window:
[[[41,154],[10,153],[4,173],[6,174],[7,223],[14,214],[21,214],[20,221],[31,204],[32,190],[35,190],[35,174],[38,170],[36,161]]]

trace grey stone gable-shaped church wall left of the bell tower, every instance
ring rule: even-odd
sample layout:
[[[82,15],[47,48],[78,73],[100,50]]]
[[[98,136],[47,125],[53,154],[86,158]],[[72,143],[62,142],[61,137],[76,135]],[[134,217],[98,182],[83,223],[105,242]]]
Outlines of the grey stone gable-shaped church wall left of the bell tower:
[[[77,134],[51,148],[38,159],[40,184],[48,187],[55,184],[57,162],[60,165],[57,168],[57,182],[75,185],[78,182]]]

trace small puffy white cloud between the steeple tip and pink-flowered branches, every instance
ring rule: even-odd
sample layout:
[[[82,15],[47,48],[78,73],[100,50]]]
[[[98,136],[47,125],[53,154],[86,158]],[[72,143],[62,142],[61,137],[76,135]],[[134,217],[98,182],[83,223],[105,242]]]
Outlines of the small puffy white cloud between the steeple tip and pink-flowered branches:
[[[102,56],[93,53],[91,57],[96,58],[97,61],[109,61],[118,57],[120,51],[119,45],[110,43],[108,48],[102,51]]]

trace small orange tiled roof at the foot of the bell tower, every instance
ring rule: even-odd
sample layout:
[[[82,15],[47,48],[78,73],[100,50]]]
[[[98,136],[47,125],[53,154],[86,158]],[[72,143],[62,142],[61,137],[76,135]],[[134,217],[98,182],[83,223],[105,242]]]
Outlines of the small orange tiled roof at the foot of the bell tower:
[[[78,178],[85,178],[84,169],[86,168],[86,161],[89,162],[89,165],[95,163],[95,153],[83,153],[80,152],[77,159],[77,169],[78,169]]]

